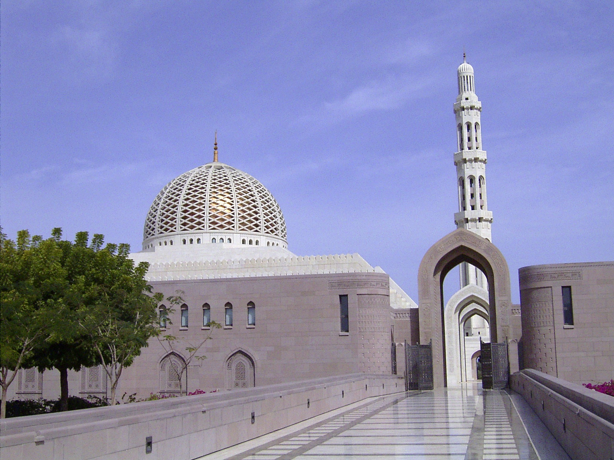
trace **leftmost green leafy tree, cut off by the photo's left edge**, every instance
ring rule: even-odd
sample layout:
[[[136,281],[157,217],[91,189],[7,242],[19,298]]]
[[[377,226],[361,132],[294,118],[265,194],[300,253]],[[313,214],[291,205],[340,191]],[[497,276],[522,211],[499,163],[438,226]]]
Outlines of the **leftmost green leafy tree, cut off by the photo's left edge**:
[[[15,244],[0,230],[0,418],[6,416],[7,391],[15,376],[53,334],[64,312],[62,299],[50,295],[64,285],[60,259],[55,239],[30,238],[23,230]]]

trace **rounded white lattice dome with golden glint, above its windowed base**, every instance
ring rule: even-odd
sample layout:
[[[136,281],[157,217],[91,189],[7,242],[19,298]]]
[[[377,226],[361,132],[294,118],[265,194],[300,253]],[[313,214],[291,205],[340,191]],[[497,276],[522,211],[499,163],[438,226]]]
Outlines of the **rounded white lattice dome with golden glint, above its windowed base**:
[[[143,239],[195,231],[249,232],[286,240],[286,221],[270,191],[251,175],[214,162],[171,180],[153,200]]]

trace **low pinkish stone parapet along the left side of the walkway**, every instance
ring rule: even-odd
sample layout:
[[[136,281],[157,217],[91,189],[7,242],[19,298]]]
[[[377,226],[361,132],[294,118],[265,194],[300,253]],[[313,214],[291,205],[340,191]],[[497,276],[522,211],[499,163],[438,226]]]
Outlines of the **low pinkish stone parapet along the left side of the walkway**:
[[[9,418],[0,421],[0,458],[190,460],[403,385],[402,378],[355,374]]]

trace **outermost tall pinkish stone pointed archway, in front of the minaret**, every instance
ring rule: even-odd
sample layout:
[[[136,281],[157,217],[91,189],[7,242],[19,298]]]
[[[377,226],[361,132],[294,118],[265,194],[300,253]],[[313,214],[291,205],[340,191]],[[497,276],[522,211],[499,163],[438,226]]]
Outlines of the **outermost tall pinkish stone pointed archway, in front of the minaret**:
[[[433,385],[447,386],[443,280],[462,262],[478,267],[488,280],[491,342],[510,334],[510,270],[501,251],[489,240],[459,228],[432,245],[418,270],[418,318],[420,343],[433,346]],[[512,372],[518,363],[510,363]]]

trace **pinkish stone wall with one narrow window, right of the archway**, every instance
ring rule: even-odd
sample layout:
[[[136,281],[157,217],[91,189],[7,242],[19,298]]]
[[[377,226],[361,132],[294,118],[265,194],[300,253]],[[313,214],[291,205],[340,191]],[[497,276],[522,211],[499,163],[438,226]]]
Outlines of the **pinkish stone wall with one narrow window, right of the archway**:
[[[519,270],[524,367],[575,383],[614,378],[614,263]],[[571,286],[573,326],[565,326],[562,286]]]

